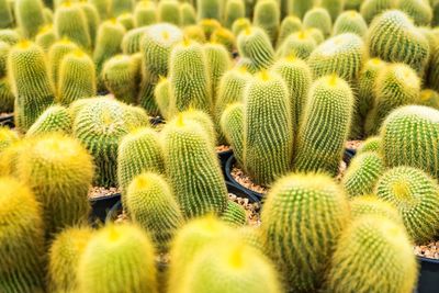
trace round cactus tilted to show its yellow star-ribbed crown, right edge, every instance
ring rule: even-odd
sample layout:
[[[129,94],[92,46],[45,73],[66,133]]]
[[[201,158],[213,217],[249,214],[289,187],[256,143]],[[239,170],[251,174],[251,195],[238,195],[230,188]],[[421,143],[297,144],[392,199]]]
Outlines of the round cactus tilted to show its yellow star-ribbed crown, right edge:
[[[439,230],[439,185],[424,171],[395,167],[378,181],[375,193],[399,211],[408,234],[417,244],[430,241]]]

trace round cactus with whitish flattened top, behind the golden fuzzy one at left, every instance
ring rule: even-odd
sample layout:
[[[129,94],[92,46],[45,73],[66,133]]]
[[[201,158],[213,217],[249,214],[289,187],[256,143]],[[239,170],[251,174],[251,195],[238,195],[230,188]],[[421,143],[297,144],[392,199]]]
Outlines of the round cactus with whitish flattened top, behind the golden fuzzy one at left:
[[[128,133],[125,111],[115,101],[102,99],[87,103],[74,122],[74,136],[91,153],[97,166],[94,182],[101,187],[116,185],[117,146]]]

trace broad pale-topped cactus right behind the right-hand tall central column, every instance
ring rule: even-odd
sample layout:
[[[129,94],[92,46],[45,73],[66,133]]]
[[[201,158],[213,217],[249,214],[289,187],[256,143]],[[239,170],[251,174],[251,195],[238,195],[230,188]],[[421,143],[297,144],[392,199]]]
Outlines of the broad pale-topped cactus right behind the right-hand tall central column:
[[[356,34],[333,36],[320,44],[308,58],[315,77],[337,74],[348,82],[353,82],[367,58],[363,41]]]

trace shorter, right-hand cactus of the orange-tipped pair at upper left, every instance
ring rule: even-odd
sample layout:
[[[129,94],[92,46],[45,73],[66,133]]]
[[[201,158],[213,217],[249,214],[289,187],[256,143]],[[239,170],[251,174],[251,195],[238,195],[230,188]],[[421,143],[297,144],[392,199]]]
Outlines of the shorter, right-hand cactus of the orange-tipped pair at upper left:
[[[80,49],[65,55],[59,67],[58,102],[69,105],[97,92],[93,60]]]

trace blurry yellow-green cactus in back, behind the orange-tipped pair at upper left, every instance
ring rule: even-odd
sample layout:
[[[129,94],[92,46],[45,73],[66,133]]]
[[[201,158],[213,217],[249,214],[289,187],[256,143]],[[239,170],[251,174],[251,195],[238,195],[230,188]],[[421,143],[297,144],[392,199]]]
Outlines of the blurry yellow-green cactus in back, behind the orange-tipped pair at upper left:
[[[79,5],[67,2],[55,11],[54,26],[58,38],[67,37],[83,49],[91,47],[86,14]]]

